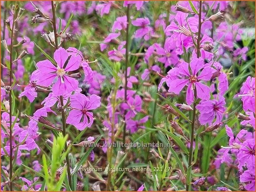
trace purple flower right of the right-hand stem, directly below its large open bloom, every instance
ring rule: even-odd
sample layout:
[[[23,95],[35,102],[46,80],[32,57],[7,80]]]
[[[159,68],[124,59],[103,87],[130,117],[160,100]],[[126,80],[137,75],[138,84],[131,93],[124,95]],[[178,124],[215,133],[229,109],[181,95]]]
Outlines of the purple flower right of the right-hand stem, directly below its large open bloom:
[[[219,100],[200,102],[200,104],[196,106],[196,109],[200,112],[200,123],[202,125],[205,125],[206,123],[211,124],[215,118],[215,123],[220,123],[226,111],[225,104],[225,98],[222,96],[219,97]]]

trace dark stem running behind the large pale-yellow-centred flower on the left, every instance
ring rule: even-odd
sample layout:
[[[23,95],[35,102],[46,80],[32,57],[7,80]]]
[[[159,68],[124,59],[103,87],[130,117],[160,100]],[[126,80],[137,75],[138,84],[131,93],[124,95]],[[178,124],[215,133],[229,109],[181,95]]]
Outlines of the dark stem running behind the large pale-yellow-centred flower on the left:
[[[55,10],[55,5],[54,2],[51,1],[51,8],[52,8],[52,12],[53,12],[53,32],[54,32],[54,39],[55,39],[55,48],[56,50],[58,49],[58,37],[57,37],[57,29],[56,29],[56,10]],[[62,107],[61,110],[61,118],[62,118],[62,133],[63,133],[63,137],[65,137],[66,135],[66,114],[65,114],[65,110],[63,109],[64,103],[63,103],[63,96],[60,95],[60,105]],[[65,142],[65,151],[68,150],[68,146],[67,143]],[[70,163],[69,163],[69,158],[68,158],[68,153],[66,154],[66,162],[67,162],[67,172],[68,172],[68,184],[69,186],[72,184],[72,180],[71,180],[71,172],[70,172]],[[75,181],[74,181],[75,182]]]

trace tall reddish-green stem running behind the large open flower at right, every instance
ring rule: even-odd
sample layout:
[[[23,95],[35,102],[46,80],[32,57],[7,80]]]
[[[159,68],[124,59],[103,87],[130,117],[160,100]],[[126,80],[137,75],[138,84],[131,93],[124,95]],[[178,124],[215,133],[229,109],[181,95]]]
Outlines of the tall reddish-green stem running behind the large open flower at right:
[[[198,14],[198,38],[197,38],[197,58],[200,57],[200,36],[201,36],[201,16],[202,16],[202,1],[199,1],[199,14]],[[193,115],[192,115],[192,124],[191,124],[191,137],[190,137],[190,149],[188,156],[188,167],[192,165],[193,158],[193,141],[194,141],[194,128],[195,128],[195,119],[196,119],[196,87],[194,87],[194,102],[193,102]],[[186,184],[186,191],[189,190],[191,184]]]

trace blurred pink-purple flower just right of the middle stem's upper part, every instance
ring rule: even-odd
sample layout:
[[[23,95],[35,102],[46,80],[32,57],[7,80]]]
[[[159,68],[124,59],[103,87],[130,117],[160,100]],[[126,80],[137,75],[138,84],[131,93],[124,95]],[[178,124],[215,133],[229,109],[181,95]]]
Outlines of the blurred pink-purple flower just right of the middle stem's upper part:
[[[140,27],[140,29],[135,31],[135,38],[144,37],[145,40],[149,40],[152,28],[149,26],[150,20],[148,18],[137,18],[132,21],[132,24]]]

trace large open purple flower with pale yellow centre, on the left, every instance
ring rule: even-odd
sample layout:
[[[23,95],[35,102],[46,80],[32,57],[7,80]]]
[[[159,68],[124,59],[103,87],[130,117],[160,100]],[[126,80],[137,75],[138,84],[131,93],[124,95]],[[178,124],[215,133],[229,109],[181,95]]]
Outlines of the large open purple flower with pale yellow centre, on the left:
[[[70,77],[67,73],[75,71],[80,66],[79,56],[72,55],[68,60],[68,52],[60,47],[54,52],[54,59],[57,66],[54,66],[49,60],[38,62],[36,66],[38,69],[34,71],[34,79],[37,79],[37,84],[49,86],[53,83],[55,78],[57,82],[54,83],[52,90],[55,95],[63,95],[65,92],[72,92],[77,89],[78,81]],[[68,63],[66,63],[68,60]]]

